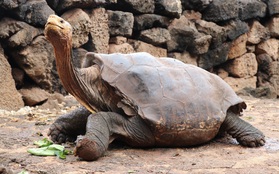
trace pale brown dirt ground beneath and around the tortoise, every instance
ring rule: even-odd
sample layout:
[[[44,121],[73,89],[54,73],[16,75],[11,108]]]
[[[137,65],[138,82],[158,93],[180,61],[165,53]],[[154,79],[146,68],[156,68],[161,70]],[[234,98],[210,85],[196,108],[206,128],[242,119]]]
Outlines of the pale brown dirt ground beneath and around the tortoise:
[[[131,149],[117,144],[94,162],[80,161],[73,155],[61,160],[27,153],[28,148],[35,147],[35,140],[47,137],[56,117],[73,107],[0,111],[0,168],[29,174],[279,173],[279,100],[242,98],[248,104],[242,118],[264,132],[264,147],[241,147],[228,137],[193,148]]]

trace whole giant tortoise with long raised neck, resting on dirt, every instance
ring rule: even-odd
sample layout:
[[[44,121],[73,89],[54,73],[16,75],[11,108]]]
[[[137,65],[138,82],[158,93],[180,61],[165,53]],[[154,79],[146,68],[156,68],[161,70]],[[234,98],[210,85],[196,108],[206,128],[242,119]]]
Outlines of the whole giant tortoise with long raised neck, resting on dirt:
[[[88,52],[76,68],[71,25],[51,15],[45,36],[64,88],[83,106],[59,117],[49,135],[59,143],[77,139],[75,153],[84,160],[102,156],[116,139],[132,147],[189,147],[227,132],[243,146],[265,143],[239,117],[246,104],[217,75],[143,52]]]

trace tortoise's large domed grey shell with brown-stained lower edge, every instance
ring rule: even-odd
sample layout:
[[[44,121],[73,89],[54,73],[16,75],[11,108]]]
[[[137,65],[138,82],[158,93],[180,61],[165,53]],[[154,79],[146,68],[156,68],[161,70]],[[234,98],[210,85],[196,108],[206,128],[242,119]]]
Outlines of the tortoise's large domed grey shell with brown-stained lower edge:
[[[176,59],[92,54],[101,78],[122,98],[117,106],[127,116],[142,117],[158,145],[207,142],[218,133],[228,108],[244,103],[219,76]]]

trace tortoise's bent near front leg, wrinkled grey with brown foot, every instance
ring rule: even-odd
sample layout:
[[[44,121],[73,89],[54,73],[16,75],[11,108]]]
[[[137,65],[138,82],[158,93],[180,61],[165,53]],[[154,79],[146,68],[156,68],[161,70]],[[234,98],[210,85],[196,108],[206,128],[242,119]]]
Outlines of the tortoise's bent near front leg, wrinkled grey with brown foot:
[[[96,160],[104,155],[109,143],[115,139],[133,147],[155,145],[152,132],[140,117],[99,112],[88,117],[86,134],[78,137],[74,153],[86,161]]]

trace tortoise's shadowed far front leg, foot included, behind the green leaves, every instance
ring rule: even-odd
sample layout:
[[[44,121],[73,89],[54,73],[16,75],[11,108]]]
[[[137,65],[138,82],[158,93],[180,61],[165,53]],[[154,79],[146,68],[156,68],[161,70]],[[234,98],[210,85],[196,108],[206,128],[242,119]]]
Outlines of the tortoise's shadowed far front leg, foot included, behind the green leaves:
[[[84,135],[88,116],[91,114],[84,107],[79,107],[60,116],[49,128],[48,136],[57,143],[75,141],[78,135]]]

